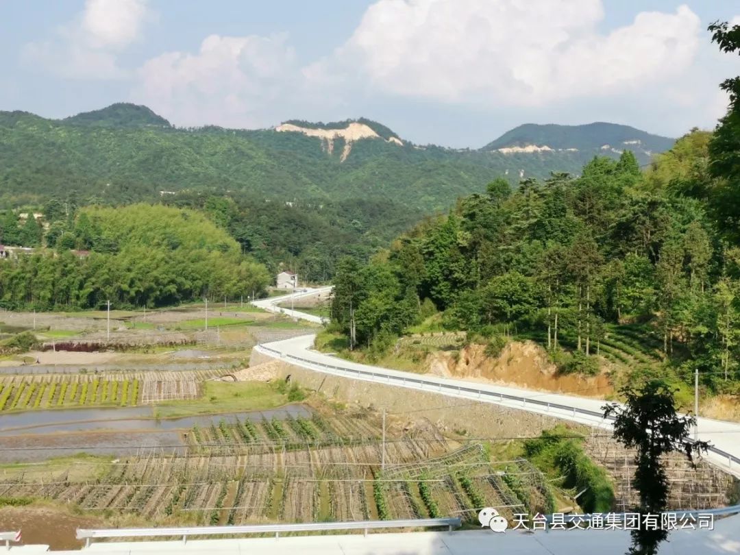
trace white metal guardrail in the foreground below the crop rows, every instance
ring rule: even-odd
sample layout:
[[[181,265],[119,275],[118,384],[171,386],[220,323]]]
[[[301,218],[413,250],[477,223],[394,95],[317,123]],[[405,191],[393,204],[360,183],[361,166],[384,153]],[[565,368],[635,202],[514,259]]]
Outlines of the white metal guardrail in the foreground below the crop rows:
[[[296,524],[263,524],[244,526],[196,526],[192,528],[110,528],[108,530],[78,529],[77,539],[84,539],[89,546],[92,539],[181,537],[186,542],[190,536],[233,536],[242,534],[275,534],[281,532],[325,532],[334,530],[369,530],[385,528],[440,528],[448,530],[460,527],[460,518],[408,519],[408,520],[359,520],[356,522],[305,522]]]

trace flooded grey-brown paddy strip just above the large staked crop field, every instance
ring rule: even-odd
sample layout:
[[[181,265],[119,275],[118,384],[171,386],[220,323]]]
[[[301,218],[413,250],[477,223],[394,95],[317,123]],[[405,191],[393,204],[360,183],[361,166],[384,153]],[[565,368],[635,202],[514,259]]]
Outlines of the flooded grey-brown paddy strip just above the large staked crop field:
[[[0,417],[0,437],[52,434],[70,431],[169,431],[189,429],[195,425],[218,425],[221,420],[233,424],[237,420],[259,421],[263,418],[284,420],[287,417],[311,417],[311,410],[300,403],[272,408],[266,411],[226,414],[199,414],[195,416],[161,419],[154,417],[154,407],[71,408],[53,411],[26,411],[4,414]]]

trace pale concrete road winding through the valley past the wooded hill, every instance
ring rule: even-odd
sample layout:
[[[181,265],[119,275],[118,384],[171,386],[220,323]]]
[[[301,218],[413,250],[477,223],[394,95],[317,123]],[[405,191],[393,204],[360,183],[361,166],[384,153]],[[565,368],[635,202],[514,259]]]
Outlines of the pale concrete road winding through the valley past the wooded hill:
[[[319,292],[324,294],[329,292],[330,289],[327,287],[300,292],[296,294],[295,298],[308,297]],[[267,307],[271,306],[279,311],[279,307],[275,305],[283,303],[289,298],[290,295],[258,300],[255,301],[255,305],[266,310],[270,310]],[[277,311],[272,310],[271,312]],[[313,322],[319,320],[318,317],[312,314],[290,310],[286,313],[292,317]],[[412,374],[381,368],[380,366],[352,363],[349,360],[314,351],[312,347],[315,337],[314,334],[301,335],[292,339],[263,343],[256,346],[255,350],[270,357],[285,360],[287,363],[325,374],[429,391],[448,397],[477,400],[482,403],[492,403],[536,414],[545,414],[595,428],[607,430],[612,428],[612,421],[602,416],[602,406],[605,404],[603,400],[575,395],[544,393],[525,388],[489,385],[468,380],[455,380],[428,374]],[[724,420],[699,418],[698,437],[699,440],[708,441],[712,445],[710,451],[705,455],[709,462],[740,478],[740,424]]]

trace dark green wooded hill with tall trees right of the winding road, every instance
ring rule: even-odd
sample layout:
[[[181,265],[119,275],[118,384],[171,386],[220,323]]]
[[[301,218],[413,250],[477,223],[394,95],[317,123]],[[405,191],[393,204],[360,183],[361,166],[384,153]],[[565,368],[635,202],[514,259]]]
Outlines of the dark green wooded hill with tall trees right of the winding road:
[[[662,371],[690,380],[699,368],[707,386],[736,393],[740,249],[718,201],[737,182],[716,173],[717,140],[691,132],[645,174],[625,152],[577,178],[516,190],[495,180],[369,265],[342,260],[336,327],[371,354],[414,325],[467,330],[491,352],[532,338],[560,371],[585,374],[605,354],[639,364],[660,353]]]

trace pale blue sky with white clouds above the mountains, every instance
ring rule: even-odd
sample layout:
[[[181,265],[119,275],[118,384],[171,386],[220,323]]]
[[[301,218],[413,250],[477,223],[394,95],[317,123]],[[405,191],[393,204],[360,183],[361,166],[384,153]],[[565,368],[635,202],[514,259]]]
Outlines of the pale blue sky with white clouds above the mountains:
[[[733,0],[0,0],[0,110],[115,101],[173,124],[365,116],[480,147],[518,124],[713,127]]]

